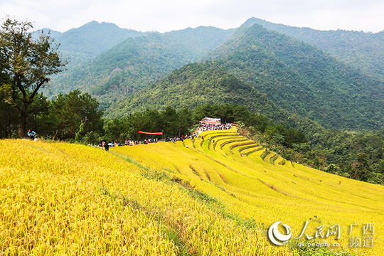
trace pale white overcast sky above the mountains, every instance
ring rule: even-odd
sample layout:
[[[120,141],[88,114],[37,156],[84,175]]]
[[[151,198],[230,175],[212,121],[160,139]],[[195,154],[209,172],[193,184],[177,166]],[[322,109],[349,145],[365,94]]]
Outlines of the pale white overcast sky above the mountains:
[[[320,30],[384,30],[383,0],[0,0],[1,20],[6,15],[61,32],[89,21],[159,32],[236,28],[251,17]]]

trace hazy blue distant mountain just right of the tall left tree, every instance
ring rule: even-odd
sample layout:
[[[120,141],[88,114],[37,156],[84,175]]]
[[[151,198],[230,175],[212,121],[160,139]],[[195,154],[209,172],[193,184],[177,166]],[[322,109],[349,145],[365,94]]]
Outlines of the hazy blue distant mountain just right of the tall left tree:
[[[47,28],[43,31],[48,31]],[[114,23],[91,21],[80,28],[72,28],[64,33],[50,31],[50,36],[60,43],[60,53],[68,59],[67,68],[94,58],[105,50],[135,36],[147,33],[119,28]]]

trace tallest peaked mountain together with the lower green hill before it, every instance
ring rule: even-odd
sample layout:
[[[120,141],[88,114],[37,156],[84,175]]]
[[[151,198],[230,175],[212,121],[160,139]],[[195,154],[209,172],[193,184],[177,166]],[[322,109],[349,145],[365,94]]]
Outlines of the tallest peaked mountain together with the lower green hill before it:
[[[294,38],[259,25],[242,28],[206,59],[215,61],[183,67],[107,113],[119,111],[114,108],[130,112],[149,106],[177,108],[201,102],[240,101],[250,110],[262,110],[260,97],[254,96],[261,92],[280,109],[309,117],[325,127],[383,127],[383,83]],[[220,76],[231,78],[228,89]]]

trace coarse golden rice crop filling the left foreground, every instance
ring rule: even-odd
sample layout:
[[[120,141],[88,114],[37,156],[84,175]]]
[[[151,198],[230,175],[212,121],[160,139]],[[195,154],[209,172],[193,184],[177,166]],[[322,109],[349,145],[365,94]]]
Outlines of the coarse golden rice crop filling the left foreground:
[[[76,144],[0,146],[0,254],[289,253],[136,161]]]

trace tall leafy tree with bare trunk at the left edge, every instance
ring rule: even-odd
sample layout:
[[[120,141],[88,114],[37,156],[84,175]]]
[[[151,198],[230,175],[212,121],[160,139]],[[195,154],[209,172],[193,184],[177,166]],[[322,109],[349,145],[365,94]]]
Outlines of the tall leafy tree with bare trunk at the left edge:
[[[47,85],[49,75],[59,73],[66,64],[49,33],[33,38],[32,28],[31,22],[11,18],[0,28],[0,89],[5,102],[18,112],[21,138],[26,137],[28,116],[41,111],[32,104],[38,90]]]

